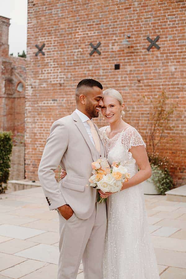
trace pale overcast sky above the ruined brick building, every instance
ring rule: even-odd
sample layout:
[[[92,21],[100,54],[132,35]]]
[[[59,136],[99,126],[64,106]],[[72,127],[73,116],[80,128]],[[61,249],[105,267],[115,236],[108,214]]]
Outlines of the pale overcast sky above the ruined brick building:
[[[27,0],[0,0],[0,15],[11,18],[9,27],[9,54],[26,53]]]

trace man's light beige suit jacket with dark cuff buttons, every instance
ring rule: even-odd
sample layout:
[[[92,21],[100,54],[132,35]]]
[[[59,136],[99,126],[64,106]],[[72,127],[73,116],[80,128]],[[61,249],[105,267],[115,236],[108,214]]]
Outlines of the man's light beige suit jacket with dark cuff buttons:
[[[100,154],[76,112],[52,124],[38,169],[50,210],[69,204],[78,218],[91,216],[97,193],[95,188],[86,186],[92,175],[91,162],[106,157],[100,131],[96,125],[95,128],[100,138]],[[59,165],[67,175],[58,184],[54,170]]]

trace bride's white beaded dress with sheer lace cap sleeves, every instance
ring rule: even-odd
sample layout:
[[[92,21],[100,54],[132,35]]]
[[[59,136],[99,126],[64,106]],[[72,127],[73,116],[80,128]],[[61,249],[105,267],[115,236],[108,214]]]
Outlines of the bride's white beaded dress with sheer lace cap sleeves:
[[[145,143],[138,131],[128,126],[122,133],[104,138],[109,164],[127,161],[131,177],[138,172],[131,146]],[[142,184],[127,188],[107,199],[108,224],[105,238],[104,279],[159,279],[157,261],[151,243]]]

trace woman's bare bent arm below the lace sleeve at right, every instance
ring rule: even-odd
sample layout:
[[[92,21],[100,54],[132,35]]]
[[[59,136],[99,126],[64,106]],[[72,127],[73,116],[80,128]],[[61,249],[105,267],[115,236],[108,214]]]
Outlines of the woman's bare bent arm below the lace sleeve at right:
[[[148,156],[144,145],[132,146],[129,151],[132,153],[132,157],[135,159],[136,164],[139,167],[139,171],[127,182],[123,183],[122,190],[135,186],[148,179],[152,175],[151,166],[148,161]]]

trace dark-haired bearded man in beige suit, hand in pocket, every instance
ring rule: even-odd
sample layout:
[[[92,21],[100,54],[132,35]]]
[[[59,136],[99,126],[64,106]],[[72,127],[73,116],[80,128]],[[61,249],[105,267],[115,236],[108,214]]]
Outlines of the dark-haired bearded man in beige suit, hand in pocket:
[[[102,278],[106,206],[96,202],[96,189],[86,186],[91,163],[106,157],[99,129],[92,121],[103,106],[102,89],[93,79],[78,83],[77,109],[52,124],[38,169],[49,209],[59,214],[58,279],[75,279],[81,259],[85,279]],[[54,170],[59,164],[67,175],[58,186]]]

